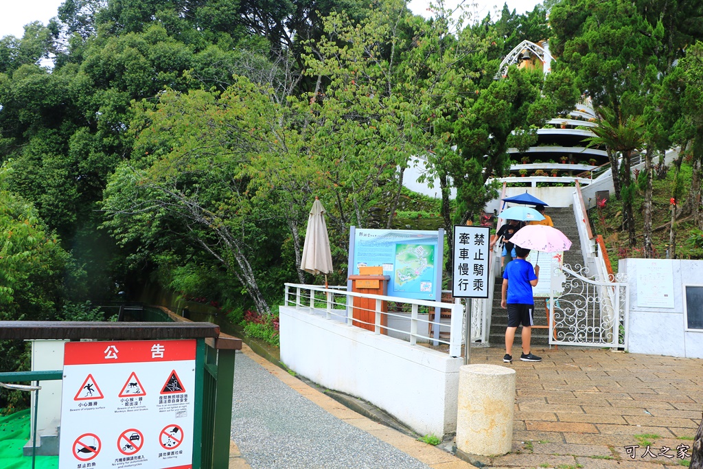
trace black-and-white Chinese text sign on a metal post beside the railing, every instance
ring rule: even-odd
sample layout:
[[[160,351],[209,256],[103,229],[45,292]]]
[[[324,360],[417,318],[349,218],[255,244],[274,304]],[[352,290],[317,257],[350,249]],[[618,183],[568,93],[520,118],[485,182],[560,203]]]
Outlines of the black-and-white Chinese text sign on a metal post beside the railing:
[[[488,226],[454,226],[451,271],[451,295],[467,298],[464,364],[471,359],[471,298],[488,298],[489,291]]]

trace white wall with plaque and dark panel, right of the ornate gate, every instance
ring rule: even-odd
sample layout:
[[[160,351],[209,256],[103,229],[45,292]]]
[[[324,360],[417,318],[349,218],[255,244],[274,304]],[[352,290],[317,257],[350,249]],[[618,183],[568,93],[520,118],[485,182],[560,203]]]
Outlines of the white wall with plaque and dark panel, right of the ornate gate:
[[[673,308],[644,307],[637,304],[637,273],[651,276],[648,263],[671,264],[673,278],[656,281],[673,284]],[[700,284],[703,261],[683,259],[620,259],[619,272],[628,276],[630,314],[628,352],[703,358],[703,331],[686,331],[683,314],[683,284]],[[656,275],[656,274],[654,274]]]

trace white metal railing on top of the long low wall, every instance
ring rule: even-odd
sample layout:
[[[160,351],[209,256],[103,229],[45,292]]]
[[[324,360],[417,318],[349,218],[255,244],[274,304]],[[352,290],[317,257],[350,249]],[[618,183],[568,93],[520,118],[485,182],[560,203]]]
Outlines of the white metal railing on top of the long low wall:
[[[285,283],[283,306],[295,307],[309,314],[324,315],[325,319],[346,323],[347,326],[356,324],[370,326],[373,327],[375,334],[392,334],[393,338],[399,340],[407,338],[410,345],[417,345],[418,341],[448,345],[450,356],[461,356],[464,306],[460,302],[443,303],[370,295],[342,290],[342,288],[346,287],[325,288],[318,285]],[[364,307],[361,300],[355,302],[354,299],[364,299],[367,304],[373,304],[373,308]],[[449,323],[438,323],[432,319],[435,311],[441,309],[451,310]],[[363,321],[359,314],[355,317],[355,310],[370,315],[373,317],[373,322]],[[391,326],[389,322],[392,322]],[[430,337],[430,324],[443,330],[449,329],[449,340],[443,340],[441,336]],[[427,330],[427,333],[421,333],[422,330]]]

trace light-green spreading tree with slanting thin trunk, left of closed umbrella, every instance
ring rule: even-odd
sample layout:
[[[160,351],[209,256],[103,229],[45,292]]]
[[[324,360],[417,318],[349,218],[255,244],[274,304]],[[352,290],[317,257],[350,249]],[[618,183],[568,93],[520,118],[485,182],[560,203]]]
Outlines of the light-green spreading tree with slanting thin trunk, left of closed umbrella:
[[[143,103],[135,112],[134,153],[105,190],[105,226],[121,245],[146,247],[152,259],[179,252],[174,242],[181,252],[207,253],[269,314],[259,278],[276,262],[266,240],[277,232],[255,203],[250,174],[253,161],[278,157],[277,142],[286,139],[282,108],[240,78],[223,94],[168,92],[157,108]]]

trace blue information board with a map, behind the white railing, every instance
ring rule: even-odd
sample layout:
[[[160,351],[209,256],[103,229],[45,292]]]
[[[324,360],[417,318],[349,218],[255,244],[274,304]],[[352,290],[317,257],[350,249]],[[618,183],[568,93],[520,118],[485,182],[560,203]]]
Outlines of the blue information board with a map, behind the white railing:
[[[349,275],[360,266],[381,266],[389,296],[438,300],[444,230],[355,229],[349,243]]]

